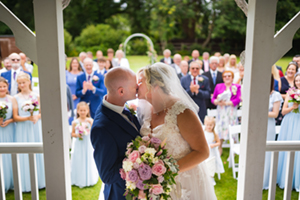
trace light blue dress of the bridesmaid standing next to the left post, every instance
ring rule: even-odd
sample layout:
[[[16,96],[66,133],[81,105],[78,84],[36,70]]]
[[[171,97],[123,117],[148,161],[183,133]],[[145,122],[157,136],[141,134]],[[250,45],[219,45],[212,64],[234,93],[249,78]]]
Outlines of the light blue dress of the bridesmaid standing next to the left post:
[[[20,95],[21,96],[21,95]],[[24,103],[30,99],[24,99],[16,95],[15,98],[18,102],[18,112],[21,117],[30,116],[29,112],[22,110]],[[33,94],[31,99],[37,99],[37,95]],[[35,111],[33,115],[38,115],[39,111]],[[33,124],[32,121],[23,121],[16,123],[15,142],[43,142],[41,120]],[[20,158],[20,173],[22,191],[31,191],[30,186],[30,172],[29,172],[29,159],[28,154],[19,154]],[[36,166],[37,166],[37,180],[38,188],[45,187],[45,169],[44,169],[44,156],[43,154],[36,154]]]

